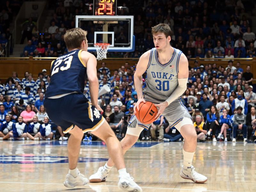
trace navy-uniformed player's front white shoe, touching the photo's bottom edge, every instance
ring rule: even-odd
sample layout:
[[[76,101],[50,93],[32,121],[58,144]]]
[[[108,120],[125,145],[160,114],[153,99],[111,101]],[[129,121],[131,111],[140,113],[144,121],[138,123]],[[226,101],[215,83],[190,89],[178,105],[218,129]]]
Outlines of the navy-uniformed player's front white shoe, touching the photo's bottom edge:
[[[142,188],[134,182],[129,173],[119,175],[118,188],[129,192],[142,192]]]

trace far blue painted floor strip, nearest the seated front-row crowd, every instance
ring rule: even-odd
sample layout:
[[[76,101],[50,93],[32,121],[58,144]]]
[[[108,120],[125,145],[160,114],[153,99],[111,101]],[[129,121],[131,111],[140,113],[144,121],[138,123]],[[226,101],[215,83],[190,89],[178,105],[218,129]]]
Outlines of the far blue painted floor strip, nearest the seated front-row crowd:
[[[152,147],[154,145],[159,144],[160,142],[136,142],[132,147]],[[26,146],[67,146],[68,141],[49,141],[49,142],[42,142],[36,144],[25,144]],[[91,146],[91,147],[106,147],[106,143],[102,141],[85,141],[81,142],[81,146]]]

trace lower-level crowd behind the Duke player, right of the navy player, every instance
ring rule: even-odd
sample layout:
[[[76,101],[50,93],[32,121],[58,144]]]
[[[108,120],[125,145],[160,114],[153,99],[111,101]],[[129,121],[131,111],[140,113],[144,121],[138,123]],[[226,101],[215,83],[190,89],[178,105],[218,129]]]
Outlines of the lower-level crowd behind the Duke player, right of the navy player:
[[[194,67],[189,67],[188,88],[181,99],[192,116],[198,141],[212,139],[215,142],[218,139],[236,142],[236,139],[241,139],[250,142],[256,139],[256,94],[252,87],[251,66],[248,65],[244,71],[240,62],[233,65],[233,61],[229,60],[227,63],[228,66],[223,67],[216,64],[198,65],[195,61]],[[100,96],[99,104],[106,109],[103,116],[109,118],[108,122],[120,138],[126,132],[137,101],[132,78],[134,69],[136,65],[129,66],[126,62],[111,76],[103,62],[98,71],[100,89],[104,85],[111,89],[111,92]],[[88,87],[87,82],[85,94],[90,98]],[[140,135],[140,140],[150,139],[176,141],[181,140],[181,135],[175,128],[170,129],[162,116],[151,125],[150,131],[143,131]]]

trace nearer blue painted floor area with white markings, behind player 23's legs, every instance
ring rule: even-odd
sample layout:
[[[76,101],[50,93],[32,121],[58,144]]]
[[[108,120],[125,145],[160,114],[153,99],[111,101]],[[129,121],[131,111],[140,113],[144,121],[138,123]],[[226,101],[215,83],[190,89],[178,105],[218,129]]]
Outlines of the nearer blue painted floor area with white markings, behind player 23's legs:
[[[106,158],[86,158],[79,157],[78,163],[102,162],[107,161]],[[44,163],[68,163],[68,157],[61,156],[0,156],[0,164],[44,164]]]

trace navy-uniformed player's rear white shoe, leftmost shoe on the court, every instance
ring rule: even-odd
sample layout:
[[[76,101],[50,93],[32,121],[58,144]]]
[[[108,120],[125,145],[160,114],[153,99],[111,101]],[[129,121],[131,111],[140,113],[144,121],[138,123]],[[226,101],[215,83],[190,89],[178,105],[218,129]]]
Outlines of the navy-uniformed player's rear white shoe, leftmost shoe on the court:
[[[73,177],[71,174],[67,174],[66,180],[63,184],[65,187],[73,188],[76,186],[86,185],[87,183],[88,179],[78,171],[78,175],[76,177]]]

